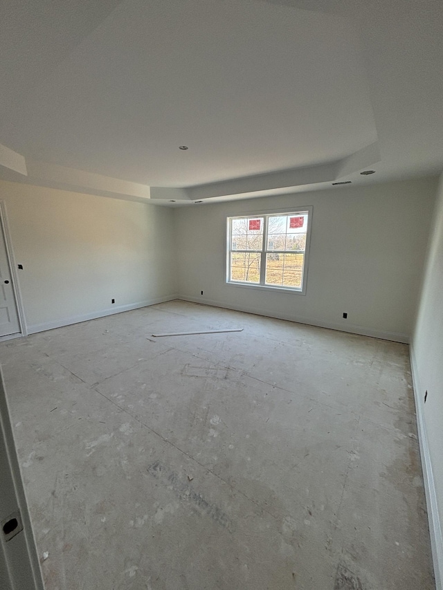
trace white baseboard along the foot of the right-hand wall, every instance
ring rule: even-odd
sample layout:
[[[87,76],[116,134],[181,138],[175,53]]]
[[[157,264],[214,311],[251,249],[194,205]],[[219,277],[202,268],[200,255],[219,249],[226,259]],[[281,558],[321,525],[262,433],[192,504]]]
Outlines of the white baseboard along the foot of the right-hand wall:
[[[433,477],[431,455],[429,454],[428,437],[426,435],[426,423],[423,415],[422,389],[419,386],[419,376],[415,353],[412,345],[410,352],[410,369],[413,376],[413,389],[415,397],[415,411],[417,413],[417,430],[422,457],[422,470],[424,479],[424,491],[426,494],[426,506],[428,509],[429,535],[431,537],[431,550],[434,563],[435,588],[443,590],[443,534],[440,515],[438,513],[437,490]]]

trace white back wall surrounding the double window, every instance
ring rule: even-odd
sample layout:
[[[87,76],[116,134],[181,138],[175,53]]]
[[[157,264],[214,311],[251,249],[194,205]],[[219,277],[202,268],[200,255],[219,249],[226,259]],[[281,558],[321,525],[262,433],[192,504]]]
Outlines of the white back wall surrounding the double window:
[[[408,341],[436,187],[422,178],[177,209],[180,296]],[[226,216],[299,205],[314,206],[307,294],[226,284]]]

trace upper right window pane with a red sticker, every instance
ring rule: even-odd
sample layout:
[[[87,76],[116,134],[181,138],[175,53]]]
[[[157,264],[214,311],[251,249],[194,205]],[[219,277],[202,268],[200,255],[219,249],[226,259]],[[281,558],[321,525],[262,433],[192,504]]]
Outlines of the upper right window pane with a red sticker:
[[[271,216],[266,250],[305,250],[306,232],[307,215]]]

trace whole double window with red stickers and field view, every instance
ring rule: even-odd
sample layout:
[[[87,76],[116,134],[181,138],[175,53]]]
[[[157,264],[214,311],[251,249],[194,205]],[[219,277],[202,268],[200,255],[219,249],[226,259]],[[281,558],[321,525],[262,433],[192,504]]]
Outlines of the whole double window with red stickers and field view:
[[[227,282],[305,293],[311,213],[228,217]]]

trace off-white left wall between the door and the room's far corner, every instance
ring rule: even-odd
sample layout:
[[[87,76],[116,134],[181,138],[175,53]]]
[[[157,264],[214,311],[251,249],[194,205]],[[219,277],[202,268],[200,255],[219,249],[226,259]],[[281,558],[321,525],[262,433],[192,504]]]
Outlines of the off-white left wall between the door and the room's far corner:
[[[168,208],[5,181],[0,199],[30,331],[176,295]]]

